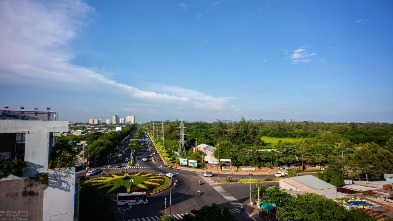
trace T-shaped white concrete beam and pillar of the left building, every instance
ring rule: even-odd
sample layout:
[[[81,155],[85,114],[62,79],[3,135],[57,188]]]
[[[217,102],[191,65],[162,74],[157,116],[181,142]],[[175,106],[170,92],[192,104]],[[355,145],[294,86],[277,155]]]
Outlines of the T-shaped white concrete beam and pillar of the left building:
[[[1,120],[0,133],[26,133],[25,161],[30,167],[22,177],[33,177],[37,173],[46,173],[49,162],[49,144],[51,132],[67,132],[68,121],[43,120]],[[0,180],[20,179],[14,175]]]

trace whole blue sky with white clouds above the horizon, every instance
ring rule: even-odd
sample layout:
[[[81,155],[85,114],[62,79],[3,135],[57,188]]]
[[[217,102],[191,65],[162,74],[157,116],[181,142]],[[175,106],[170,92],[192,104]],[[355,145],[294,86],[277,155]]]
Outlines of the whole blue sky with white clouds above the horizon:
[[[392,1],[1,1],[0,105],[393,122]]]

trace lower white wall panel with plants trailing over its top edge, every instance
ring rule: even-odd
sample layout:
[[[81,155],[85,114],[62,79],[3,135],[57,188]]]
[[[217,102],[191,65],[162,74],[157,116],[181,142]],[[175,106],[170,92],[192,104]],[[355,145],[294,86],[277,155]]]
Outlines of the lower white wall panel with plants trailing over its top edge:
[[[44,192],[43,221],[73,221],[75,167],[48,170]],[[58,177],[58,181],[53,177]],[[94,217],[92,217],[94,218]]]

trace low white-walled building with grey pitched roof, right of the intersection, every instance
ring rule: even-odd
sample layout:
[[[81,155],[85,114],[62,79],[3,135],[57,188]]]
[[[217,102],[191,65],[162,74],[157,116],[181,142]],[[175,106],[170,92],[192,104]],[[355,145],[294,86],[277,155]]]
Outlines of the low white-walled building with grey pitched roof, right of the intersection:
[[[318,195],[323,195],[329,199],[334,199],[337,197],[336,186],[333,186],[332,184],[320,180],[312,175],[282,179],[280,180],[280,188],[305,193],[315,193]]]

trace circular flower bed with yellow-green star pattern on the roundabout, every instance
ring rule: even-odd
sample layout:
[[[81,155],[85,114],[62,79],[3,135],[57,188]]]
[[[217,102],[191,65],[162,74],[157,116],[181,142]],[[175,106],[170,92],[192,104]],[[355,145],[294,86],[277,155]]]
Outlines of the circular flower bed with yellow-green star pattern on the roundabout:
[[[130,182],[131,180],[134,182]],[[171,180],[155,173],[118,173],[90,179],[86,183],[109,194],[139,191],[152,193],[169,186]]]

